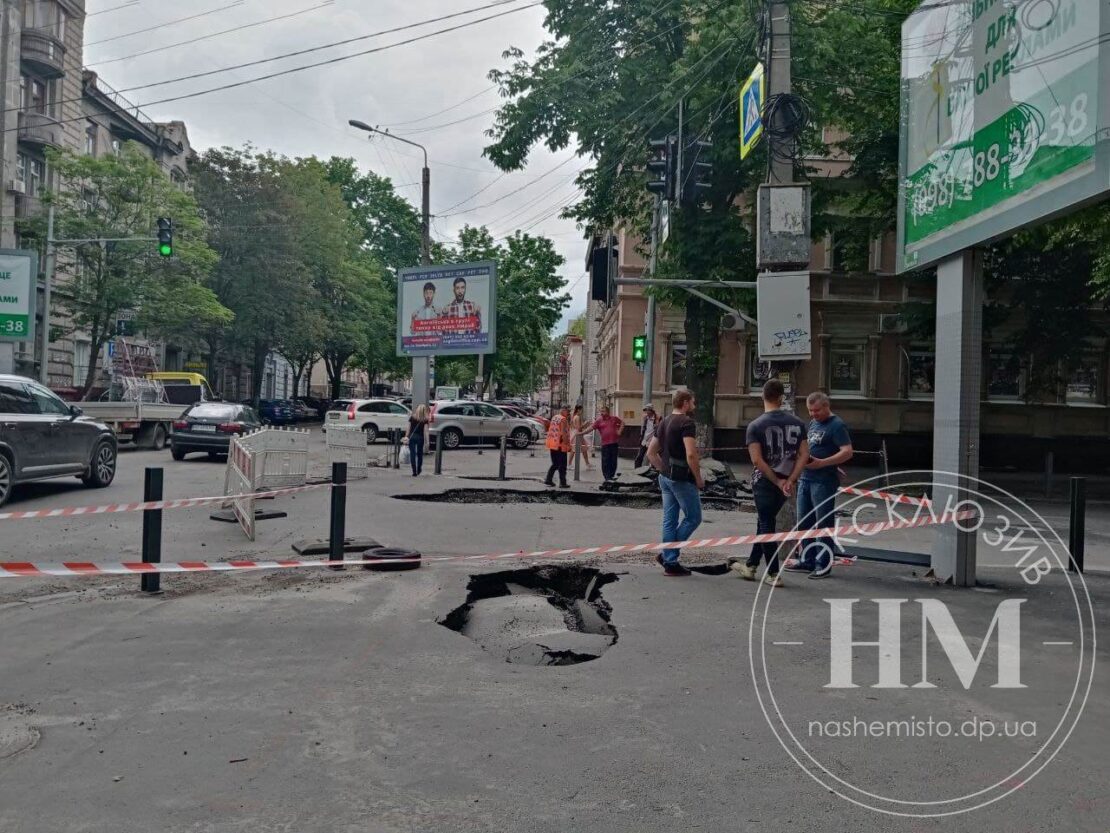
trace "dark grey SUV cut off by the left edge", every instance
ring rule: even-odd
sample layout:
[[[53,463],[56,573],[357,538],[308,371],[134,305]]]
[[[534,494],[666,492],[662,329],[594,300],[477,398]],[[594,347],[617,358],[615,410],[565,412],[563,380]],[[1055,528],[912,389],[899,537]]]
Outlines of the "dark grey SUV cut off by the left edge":
[[[110,485],[119,454],[115,434],[38,382],[0,375],[0,505],[17,483],[77,475],[93,489]]]

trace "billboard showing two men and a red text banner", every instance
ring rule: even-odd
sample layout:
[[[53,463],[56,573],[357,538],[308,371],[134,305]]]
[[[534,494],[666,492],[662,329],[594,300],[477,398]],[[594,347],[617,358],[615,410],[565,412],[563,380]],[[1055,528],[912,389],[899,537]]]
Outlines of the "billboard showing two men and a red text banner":
[[[495,263],[401,270],[397,355],[475,355],[496,349]]]

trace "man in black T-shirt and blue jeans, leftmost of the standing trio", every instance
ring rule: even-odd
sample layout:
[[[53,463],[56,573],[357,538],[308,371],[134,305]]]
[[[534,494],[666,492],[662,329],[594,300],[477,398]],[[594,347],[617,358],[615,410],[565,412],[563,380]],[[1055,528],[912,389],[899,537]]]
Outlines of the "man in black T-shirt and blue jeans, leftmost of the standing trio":
[[[647,446],[647,459],[659,472],[659,491],[663,492],[663,540],[666,543],[687,541],[702,524],[702,462],[697,453],[697,426],[694,394],[677,391],[669,416]],[[679,515],[684,515],[682,523]],[[663,566],[664,575],[689,575],[690,571],[678,563],[677,549],[664,550],[655,560]]]

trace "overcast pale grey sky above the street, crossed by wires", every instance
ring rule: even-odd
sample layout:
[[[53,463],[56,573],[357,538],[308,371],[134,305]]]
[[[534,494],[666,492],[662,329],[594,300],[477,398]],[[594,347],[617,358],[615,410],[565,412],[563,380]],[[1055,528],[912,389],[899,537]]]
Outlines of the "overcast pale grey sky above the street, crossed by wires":
[[[367,140],[349,119],[389,128],[427,148],[432,169],[433,234],[453,239],[465,224],[495,237],[516,229],[545,234],[566,258],[563,275],[574,297],[567,318],[585,309],[585,243],[559,208],[576,193],[581,160],[536,149],[524,171],[502,175],[482,157],[490,110],[500,101],[486,73],[502,52],[531,54],[544,39],[544,10],[534,0],[357,40],[299,57],[160,83],[183,76],[261,61],[286,52],[486,6],[494,0],[88,0],[84,63],[140,107],[259,76],[397,43],[508,9],[511,14],[426,40],[363,54],[235,89],[176,102],[150,103],[155,121],[186,122],[193,145],[246,142],[286,155],[344,155],[390,177],[420,205],[420,151],[392,139]],[[283,20],[273,20],[292,16]],[[183,20],[184,18],[193,18]],[[249,26],[259,23],[258,26]],[[236,27],[239,31],[218,34]],[[149,31],[140,31],[149,30]],[[209,37],[212,36],[212,37]],[[195,42],[173,46],[182,41]],[[139,54],[148,53],[148,54]],[[120,60],[122,59],[122,60]],[[142,84],[157,84],[139,88]],[[474,117],[474,118],[468,118]],[[456,123],[452,123],[456,122]],[[561,165],[561,167],[559,167]],[[548,172],[551,173],[548,174]],[[548,175],[544,175],[548,174]],[[541,178],[542,177],[542,178]],[[484,189],[484,190],[483,190]]]

